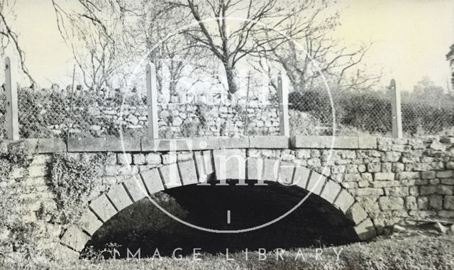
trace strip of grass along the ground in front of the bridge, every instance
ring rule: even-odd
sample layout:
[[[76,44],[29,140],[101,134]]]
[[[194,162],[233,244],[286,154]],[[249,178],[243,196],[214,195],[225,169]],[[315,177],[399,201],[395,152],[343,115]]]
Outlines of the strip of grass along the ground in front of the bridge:
[[[454,269],[453,236],[414,236],[404,239],[380,239],[370,243],[355,243],[335,247],[342,249],[337,260],[333,247],[324,247],[319,259],[316,249],[294,249],[284,252],[277,259],[275,252],[259,259],[258,252],[225,254],[201,254],[200,261],[192,256],[180,260],[161,259],[108,259],[47,262],[40,266],[31,262],[4,265],[7,269]],[[320,252],[320,250],[319,250]],[[304,259],[302,259],[302,257]],[[262,255],[263,256],[263,255]],[[320,259],[321,258],[321,259]],[[1,266],[1,264],[0,264]]]

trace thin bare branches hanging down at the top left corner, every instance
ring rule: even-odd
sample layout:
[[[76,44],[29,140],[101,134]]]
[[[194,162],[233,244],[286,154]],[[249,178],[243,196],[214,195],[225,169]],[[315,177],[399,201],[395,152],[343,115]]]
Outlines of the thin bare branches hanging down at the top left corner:
[[[14,6],[16,1],[0,0],[0,55],[3,57],[6,48],[11,49],[18,55],[19,66],[22,72],[30,80],[32,87],[36,87],[36,82],[33,80],[26,66],[26,53],[21,48],[18,34],[13,30],[11,23],[15,20]]]

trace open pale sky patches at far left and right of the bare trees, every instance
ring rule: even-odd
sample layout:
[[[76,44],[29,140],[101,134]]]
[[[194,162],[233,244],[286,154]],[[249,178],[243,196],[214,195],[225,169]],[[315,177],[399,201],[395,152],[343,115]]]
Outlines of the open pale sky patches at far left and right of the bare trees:
[[[401,90],[411,90],[428,76],[447,87],[454,0],[338,0],[335,8],[341,15],[339,43],[373,42],[364,63],[371,72],[383,70],[384,84],[394,78]],[[57,30],[51,1],[17,0],[15,12],[26,64],[38,84],[70,84],[72,53]]]

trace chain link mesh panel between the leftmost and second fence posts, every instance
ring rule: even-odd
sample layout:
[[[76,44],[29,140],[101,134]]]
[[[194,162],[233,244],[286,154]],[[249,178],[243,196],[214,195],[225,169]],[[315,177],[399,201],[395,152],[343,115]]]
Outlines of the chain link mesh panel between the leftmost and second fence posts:
[[[18,91],[19,134],[22,138],[142,136],[146,106],[140,98],[116,93],[76,90]]]

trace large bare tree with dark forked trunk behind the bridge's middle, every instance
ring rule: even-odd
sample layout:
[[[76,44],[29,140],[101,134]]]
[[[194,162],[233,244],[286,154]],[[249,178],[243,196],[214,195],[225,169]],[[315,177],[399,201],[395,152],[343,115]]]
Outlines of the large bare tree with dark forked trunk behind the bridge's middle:
[[[271,28],[277,28],[293,16],[294,11],[285,11],[278,3],[277,0],[170,1],[170,4],[182,6],[192,14],[198,26],[188,29],[186,34],[221,61],[226,72],[229,94],[238,91],[238,61],[265,48],[265,44],[285,40],[283,36],[267,37],[267,26],[262,24],[270,23]],[[229,16],[244,17],[244,20],[232,22],[229,21]],[[213,19],[215,23],[207,22]]]

